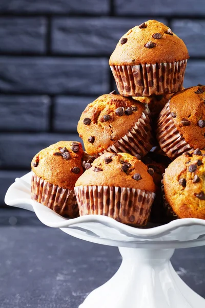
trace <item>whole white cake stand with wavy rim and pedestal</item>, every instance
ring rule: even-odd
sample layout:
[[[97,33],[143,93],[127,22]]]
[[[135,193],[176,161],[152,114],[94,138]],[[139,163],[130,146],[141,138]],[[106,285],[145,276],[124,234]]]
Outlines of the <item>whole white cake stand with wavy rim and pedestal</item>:
[[[65,219],[30,199],[31,174],[7,191],[8,205],[32,210],[47,226],[86,241],[118,246],[117,273],[90,293],[79,308],[204,308],[205,300],[177,275],[170,258],[175,248],[205,245],[205,221],[179,219],[150,228],[134,228],[106,216]]]

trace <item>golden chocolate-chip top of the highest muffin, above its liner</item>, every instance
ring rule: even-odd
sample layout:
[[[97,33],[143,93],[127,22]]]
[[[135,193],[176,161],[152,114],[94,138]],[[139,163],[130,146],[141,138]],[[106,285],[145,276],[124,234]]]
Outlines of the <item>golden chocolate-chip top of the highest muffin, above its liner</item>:
[[[109,65],[138,65],[189,59],[185,43],[171,29],[150,20],[130,29],[113,51]]]

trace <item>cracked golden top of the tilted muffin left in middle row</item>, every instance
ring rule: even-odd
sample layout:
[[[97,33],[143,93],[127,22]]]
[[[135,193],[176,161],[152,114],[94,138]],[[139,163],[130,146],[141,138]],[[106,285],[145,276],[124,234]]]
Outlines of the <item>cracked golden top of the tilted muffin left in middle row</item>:
[[[90,103],[77,125],[89,155],[102,152],[124,137],[145,108],[144,104],[119,94],[104,94]]]

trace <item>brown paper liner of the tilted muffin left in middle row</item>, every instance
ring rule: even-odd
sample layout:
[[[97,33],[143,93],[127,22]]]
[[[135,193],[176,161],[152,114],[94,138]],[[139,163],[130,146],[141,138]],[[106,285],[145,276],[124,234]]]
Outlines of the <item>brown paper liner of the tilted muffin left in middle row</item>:
[[[105,152],[126,152],[133,156],[139,154],[143,157],[151,150],[153,144],[154,138],[152,136],[150,111],[146,108],[142,112],[141,118],[138,119],[124,137],[114,142],[104,151],[99,152],[98,155],[103,155]]]

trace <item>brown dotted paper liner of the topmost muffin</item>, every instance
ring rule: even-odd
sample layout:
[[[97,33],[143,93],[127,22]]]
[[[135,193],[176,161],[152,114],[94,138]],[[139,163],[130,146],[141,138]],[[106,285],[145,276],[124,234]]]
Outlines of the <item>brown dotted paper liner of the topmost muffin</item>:
[[[150,96],[180,91],[187,60],[173,63],[110,66],[123,96]]]

